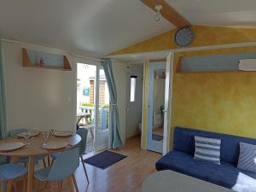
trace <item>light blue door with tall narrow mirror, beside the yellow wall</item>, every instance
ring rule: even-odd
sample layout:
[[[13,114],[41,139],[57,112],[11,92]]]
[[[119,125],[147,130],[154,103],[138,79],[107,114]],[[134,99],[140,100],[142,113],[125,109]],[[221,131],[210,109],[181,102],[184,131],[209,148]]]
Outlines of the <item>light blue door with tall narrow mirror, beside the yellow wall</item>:
[[[148,73],[147,148],[163,153],[166,63],[150,63]]]

